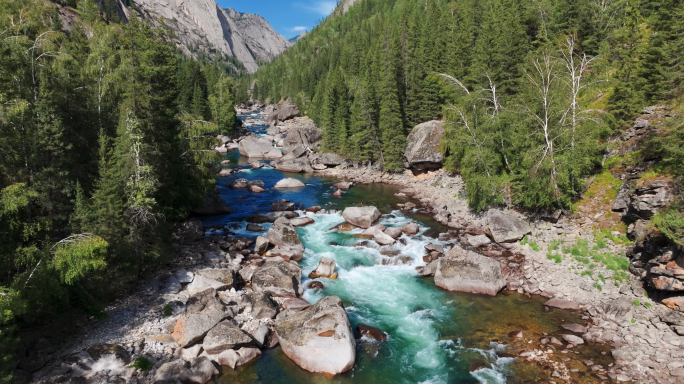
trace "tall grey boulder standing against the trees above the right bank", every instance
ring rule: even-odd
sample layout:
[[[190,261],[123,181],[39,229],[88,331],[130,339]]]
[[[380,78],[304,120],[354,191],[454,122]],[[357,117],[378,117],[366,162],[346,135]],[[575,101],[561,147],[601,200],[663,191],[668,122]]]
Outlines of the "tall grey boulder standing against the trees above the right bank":
[[[441,168],[444,156],[440,139],[444,134],[443,121],[428,121],[413,128],[409,134],[404,153],[404,165],[414,169]]]

